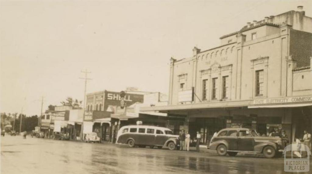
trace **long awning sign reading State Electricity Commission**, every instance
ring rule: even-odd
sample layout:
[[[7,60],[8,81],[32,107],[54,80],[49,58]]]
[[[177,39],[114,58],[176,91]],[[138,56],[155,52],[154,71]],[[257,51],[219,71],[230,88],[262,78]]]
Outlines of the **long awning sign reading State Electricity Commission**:
[[[282,103],[297,103],[297,102],[312,102],[312,96],[258,99],[258,100],[254,100],[253,104],[260,105],[260,104],[282,104]]]

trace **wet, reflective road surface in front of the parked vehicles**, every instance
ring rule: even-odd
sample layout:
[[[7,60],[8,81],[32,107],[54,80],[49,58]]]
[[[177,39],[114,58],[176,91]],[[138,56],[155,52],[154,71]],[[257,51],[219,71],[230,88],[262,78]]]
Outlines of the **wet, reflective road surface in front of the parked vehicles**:
[[[283,158],[218,156],[207,150],[197,153],[29,136],[1,137],[2,174],[286,173],[283,162]]]

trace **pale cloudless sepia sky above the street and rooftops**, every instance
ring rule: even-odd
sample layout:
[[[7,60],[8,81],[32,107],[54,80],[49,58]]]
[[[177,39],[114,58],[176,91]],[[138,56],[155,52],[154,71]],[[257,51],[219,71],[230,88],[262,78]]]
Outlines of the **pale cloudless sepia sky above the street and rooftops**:
[[[0,110],[39,115],[87,92],[169,89],[169,59],[312,1],[0,1]]]

